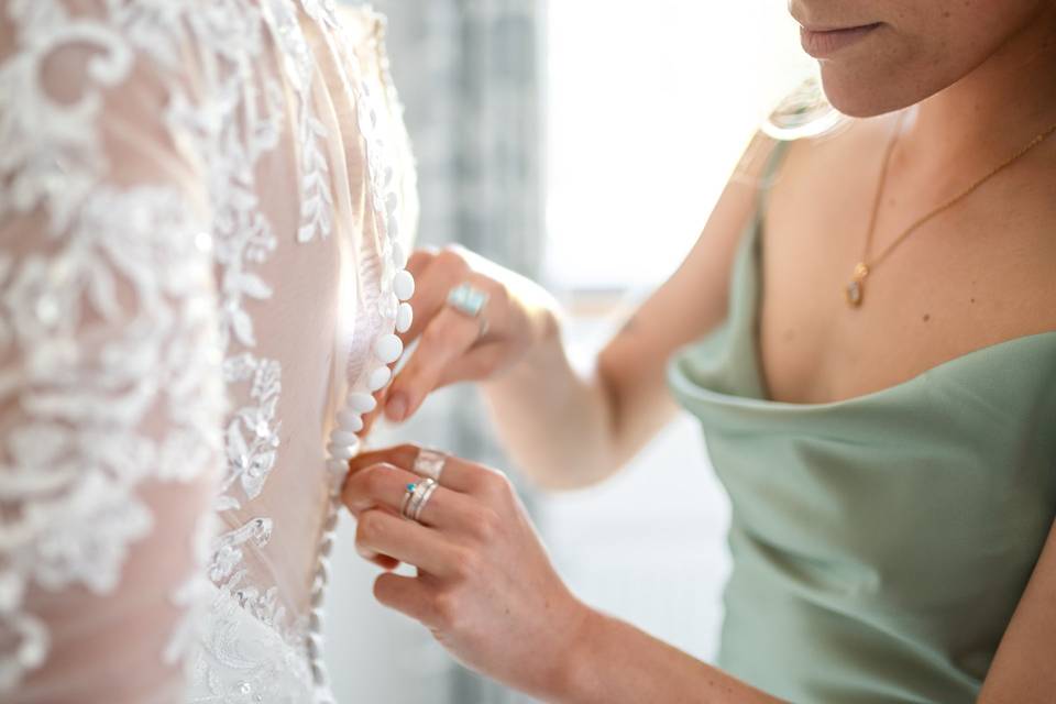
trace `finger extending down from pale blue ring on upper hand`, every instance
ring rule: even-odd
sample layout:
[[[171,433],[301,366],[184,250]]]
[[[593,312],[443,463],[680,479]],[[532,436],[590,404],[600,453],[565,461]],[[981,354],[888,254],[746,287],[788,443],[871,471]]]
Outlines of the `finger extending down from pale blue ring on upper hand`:
[[[444,370],[466,355],[481,334],[481,323],[451,308],[442,308],[429,322],[407,365],[393,382],[385,416],[400,421],[415,414],[426,396],[438,388]]]

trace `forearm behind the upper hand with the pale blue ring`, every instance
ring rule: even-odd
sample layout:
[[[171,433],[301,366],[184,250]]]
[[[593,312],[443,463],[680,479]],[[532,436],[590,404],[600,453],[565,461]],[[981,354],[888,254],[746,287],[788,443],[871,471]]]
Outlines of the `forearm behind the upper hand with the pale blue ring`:
[[[483,391],[510,457],[537,483],[584,486],[620,464],[610,394],[597,375],[573,369],[556,323],[528,358]]]

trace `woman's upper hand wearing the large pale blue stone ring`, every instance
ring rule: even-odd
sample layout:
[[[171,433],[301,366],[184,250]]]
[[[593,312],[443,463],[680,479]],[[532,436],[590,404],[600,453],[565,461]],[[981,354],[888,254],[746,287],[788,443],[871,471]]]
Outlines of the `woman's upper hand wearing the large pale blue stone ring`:
[[[415,315],[402,338],[418,346],[378,405],[389,420],[410,417],[437,388],[488,378],[557,338],[557,306],[549,294],[468,250],[418,250],[407,268],[416,282]],[[487,296],[476,318],[447,302],[462,285]]]

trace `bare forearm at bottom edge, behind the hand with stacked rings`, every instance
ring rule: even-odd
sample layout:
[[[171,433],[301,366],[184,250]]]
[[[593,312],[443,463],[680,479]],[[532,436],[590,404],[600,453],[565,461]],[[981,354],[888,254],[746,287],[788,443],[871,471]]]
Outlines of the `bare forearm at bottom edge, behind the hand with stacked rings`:
[[[780,702],[634,626],[588,612],[554,704],[774,704]]]

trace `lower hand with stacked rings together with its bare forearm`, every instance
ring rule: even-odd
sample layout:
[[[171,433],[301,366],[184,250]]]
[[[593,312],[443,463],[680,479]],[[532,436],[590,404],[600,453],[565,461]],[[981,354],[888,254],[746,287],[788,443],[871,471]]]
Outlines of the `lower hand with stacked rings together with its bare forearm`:
[[[343,499],[361,556],[418,569],[378,576],[377,601],[419,620],[463,664],[546,702],[776,701],[578,601],[501,472],[450,458],[420,522],[400,518],[407,485],[420,481],[418,451],[355,458]]]

